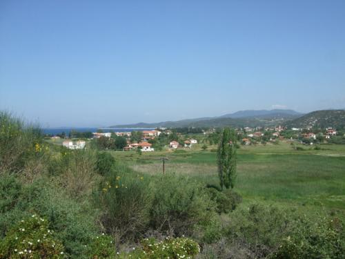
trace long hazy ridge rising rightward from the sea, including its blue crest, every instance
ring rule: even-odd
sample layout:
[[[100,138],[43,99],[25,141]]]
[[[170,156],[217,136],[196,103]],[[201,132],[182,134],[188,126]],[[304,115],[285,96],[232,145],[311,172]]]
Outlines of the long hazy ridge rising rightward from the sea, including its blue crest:
[[[220,117],[201,117],[196,119],[183,119],[179,121],[115,125],[111,128],[179,128],[179,127],[244,127],[244,126],[274,126],[283,124],[289,119],[295,119],[301,116],[292,110],[262,110],[262,111],[239,111],[237,113],[223,115]]]

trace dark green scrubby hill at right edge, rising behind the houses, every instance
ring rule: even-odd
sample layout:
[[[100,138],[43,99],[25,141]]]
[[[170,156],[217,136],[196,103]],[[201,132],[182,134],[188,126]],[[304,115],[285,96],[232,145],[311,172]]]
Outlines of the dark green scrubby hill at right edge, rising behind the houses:
[[[292,128],[345,128],[345,110],[322,110],[307,113],[302,117],[286,122]]]

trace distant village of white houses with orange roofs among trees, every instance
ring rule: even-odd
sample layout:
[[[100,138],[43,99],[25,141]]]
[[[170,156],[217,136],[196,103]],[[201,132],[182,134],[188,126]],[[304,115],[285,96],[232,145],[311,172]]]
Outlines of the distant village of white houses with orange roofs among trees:
[[[188,134],[181,137],[181,133],[176,133],[175,129],[157,128],[155,130],[139,131],[140,137],[134,139],[132,132],[97,132],[90,133],[88,140],[106,140],[110,138],[122,137],[124,144],[121,145],[122,151],[134,151],[140,149],[142,152],[155,151],[155,143],[157,139],[161,139],[162,136],[168,136],[168,142],[166,141],[165,147],[169,149],[177,148],[193,148],[198,142],[205,143],[208,140],[208,144],[213,144],[212,136],[217,135],[216,128],[201,129],[198,134],[194,134],[197,137],[188,137]],[[237,142],[242,145],[251,145],[266,142],[276,143],[279,140],[289,140],[291,142],[299,142],[301,144],[313,145],[315,143],[327,142],[332,137],[337,135],[337,130],[332,127],[324,128],[324,130],[313,131],[312,128],[285,128],[284,126],[276,127],[244,127],[236,128]],[[133,134],[138,133],[134,131]],[[52,140],[60,139],[61,136],[52,136]],[[64,139],[62,146],[69,149],[83,149],[86,146],[86,140],[78,139],[72,140],[72,138]],[[156,145],[157,146],[157,145]],[[106,148],[107,149],[107,148]]]

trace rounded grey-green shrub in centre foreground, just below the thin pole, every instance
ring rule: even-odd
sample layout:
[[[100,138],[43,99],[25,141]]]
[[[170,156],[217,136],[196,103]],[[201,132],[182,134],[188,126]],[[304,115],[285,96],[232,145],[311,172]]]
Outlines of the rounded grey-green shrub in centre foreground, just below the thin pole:
[[[170,236],[190,235],[196,224],[210,218],[212,204],[205,189],[177,175],[160,175],[150,211],[150,226]]]

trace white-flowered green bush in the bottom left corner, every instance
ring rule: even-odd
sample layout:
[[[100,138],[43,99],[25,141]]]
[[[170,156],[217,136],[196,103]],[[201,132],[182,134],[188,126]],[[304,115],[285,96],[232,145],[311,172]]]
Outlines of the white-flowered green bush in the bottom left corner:
[[[14,225],[0,243],[0,258],[64,258],[63,245],[34,214]]]

